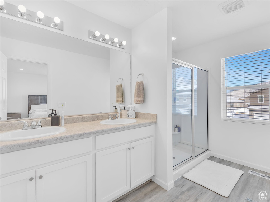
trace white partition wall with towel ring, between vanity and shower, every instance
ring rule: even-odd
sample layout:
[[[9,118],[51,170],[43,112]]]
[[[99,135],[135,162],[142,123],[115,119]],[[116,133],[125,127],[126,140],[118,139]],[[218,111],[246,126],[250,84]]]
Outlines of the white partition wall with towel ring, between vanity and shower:
[[[136,111],[157,114],[155,125],[156,175],[165,189],[174,186],[172,175],[171,11],[164,9],[132,29],[132,99],[139,73],[144,73],[145,102]],[[149,40],[149,37],[151,40]]]

